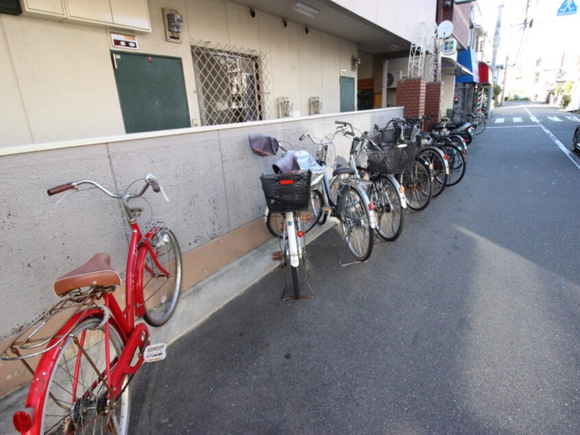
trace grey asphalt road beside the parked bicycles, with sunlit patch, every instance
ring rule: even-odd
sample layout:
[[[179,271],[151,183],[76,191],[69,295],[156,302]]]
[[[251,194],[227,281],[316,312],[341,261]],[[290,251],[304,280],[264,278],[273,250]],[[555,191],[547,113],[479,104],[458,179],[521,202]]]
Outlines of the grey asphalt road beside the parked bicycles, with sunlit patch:
[[[538,124],[569,147],[566,116],[494,110],[461,183],[367,263],[324,233],[315,298],[263,277],[143,367],[131,433],[579,434],[580,163]]]

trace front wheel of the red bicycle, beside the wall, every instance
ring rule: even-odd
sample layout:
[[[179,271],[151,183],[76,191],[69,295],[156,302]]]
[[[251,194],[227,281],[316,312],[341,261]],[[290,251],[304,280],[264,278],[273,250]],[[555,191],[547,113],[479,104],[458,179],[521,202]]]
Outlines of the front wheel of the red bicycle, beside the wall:
[[[182,258],[177,237],[171,230],[161,229],[155,233],[151,247],[162,268],[169,272],[167,277],[147,252],[143,263],[143,318],[148,325],[158,327],[165,324],[176,309],[181,290]]]

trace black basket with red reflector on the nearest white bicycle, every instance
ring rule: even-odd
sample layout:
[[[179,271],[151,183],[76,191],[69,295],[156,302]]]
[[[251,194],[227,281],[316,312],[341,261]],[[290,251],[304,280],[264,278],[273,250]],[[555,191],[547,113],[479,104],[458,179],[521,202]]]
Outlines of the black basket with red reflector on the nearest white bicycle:
[[[268,209],[273,213],[308,209],[311,178],[311,171],[261,176]]]

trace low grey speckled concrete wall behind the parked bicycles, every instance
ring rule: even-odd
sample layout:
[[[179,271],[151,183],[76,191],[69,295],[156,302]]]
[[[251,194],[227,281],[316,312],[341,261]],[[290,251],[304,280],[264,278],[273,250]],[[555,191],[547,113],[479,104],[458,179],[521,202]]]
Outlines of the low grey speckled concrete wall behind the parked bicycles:
[[[56,143],[50,150],[2,156],[0,338],[16,333],[56,303],[53,280],[95,252],[108,252],[117,271],[125,268],[125,233],[103,196],[93,189],[49,197],[47,188],[90,178],[121,190],[146,172],[162,184],[179,187],[180,211],[172,228],[184,256],[185,289],[269,237],[261,217],[265,201],[259,176],[271,173],[278,157],[252,154],[248,134],[261,132],[299,143],[306,131],[315,137],[332,132],[337,119],[370,130],[401,115],[401,108],[365,110],[127,134],[83,146]],[[308,143],[300,145],[314,150]],[[348,139],[337,138],[336,145],[336,154],[347,157]],[[215,261],[217,265],[210,264]],[[18,384],[21,372],[19,363],[0,362],[0,396]]]

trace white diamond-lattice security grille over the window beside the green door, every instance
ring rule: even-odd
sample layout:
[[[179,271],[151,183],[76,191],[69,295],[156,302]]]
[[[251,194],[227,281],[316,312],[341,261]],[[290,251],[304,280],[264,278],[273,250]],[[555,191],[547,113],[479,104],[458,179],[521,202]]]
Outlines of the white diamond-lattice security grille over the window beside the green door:
[[[265,53],[207,42],[191,52],[202,126],[271,118]]]

